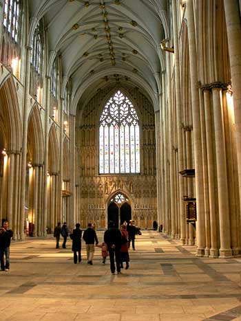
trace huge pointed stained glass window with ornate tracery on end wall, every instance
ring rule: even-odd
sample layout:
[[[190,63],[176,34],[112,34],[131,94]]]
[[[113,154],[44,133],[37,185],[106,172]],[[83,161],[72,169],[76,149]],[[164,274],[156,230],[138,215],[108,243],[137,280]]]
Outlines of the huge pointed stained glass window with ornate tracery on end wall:
[[[100,174],[140,173],[139,120],[121,91],[105,105],[99,127]]]

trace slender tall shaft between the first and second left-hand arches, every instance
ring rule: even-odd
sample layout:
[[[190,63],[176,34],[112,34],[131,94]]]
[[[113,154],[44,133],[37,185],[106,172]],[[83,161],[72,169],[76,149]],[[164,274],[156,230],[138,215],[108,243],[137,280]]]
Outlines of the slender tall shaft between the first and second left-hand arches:
[[[22,161],[21,161],[21,206],[20,206],[20,239],[25,239],[24,222],[25,222],[25,175],[27,162],[27,140],[28,140],[28,98],[30,92],[30,58],[31,47],[26,48],[25,59],[25,82],[23,96],[23,143],[22,143]]]

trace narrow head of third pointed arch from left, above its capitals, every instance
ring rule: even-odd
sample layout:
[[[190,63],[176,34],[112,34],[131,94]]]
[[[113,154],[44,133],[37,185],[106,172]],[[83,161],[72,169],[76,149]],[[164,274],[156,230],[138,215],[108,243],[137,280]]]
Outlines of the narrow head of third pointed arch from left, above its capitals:
[[[48,171],[50,173],[59,173],[59,144],[54,124],[50,128],[48,144]]]

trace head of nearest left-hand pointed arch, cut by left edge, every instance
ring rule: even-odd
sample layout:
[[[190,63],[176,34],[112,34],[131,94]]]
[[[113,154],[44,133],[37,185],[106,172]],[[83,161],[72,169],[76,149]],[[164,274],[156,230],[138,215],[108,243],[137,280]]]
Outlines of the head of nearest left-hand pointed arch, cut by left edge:
[[[4,148],[20,151],[22,142],[21,116],[14,80],[10,76],[0,88],[0,128]]]

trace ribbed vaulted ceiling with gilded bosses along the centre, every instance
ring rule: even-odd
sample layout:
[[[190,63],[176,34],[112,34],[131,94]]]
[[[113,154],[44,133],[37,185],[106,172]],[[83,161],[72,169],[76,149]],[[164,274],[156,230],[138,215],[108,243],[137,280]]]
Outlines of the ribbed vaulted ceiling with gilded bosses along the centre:
[[[59,52],[77,104],[110,83],[139,87],[156,104],[167,34],[165,0],[30,1],[31,32],[45,19],[49,70]]]

